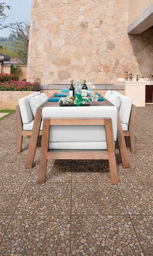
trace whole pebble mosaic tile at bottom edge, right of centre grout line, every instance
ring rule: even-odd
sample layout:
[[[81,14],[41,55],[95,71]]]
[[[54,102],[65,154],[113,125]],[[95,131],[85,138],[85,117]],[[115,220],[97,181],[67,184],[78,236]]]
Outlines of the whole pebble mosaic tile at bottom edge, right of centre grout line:
[[[71,229],[71,255],[143,255],[128,216],[73,216]]]

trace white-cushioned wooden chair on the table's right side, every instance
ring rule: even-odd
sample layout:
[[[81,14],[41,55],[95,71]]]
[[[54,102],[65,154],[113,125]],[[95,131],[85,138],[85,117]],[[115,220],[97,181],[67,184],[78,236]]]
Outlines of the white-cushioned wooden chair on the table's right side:
[[[117,97],[120,98],[121,101],[120,104],[118,102],[118,106],[116,105]],[[132,99],[117,91],[110,90],[104,94],[104,98],[119,108],[124,137],[128,136],[130,138],[130,151],[135,154],[135,105],[132,104]]]

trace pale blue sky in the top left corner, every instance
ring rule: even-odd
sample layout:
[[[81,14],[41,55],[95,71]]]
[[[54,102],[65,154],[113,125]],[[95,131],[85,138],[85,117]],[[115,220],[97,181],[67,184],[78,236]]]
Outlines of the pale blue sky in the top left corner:
[[[6,5],[10,5],[10,10],[5,10],[6,23],[14,23],[16,21],[29,21],[30,20],[30,10],[32,0],[3,0]],[[0,3],[3,2],[0,0]],[[1,29],[0,36],[9,36],[10,29]]]

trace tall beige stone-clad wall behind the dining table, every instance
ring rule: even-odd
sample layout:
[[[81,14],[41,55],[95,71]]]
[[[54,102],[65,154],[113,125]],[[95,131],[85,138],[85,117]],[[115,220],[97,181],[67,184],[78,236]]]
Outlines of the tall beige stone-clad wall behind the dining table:
[[[153,73],[153,30],[127,35],[129,0],[33,0],[27,79],[117,83]]]

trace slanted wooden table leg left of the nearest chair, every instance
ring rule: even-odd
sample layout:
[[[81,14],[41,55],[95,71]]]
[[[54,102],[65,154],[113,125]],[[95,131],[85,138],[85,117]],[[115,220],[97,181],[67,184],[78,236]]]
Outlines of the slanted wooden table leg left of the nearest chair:
[[[36,115],[34,118],[34,125],[32,128],[32,134],[31,134],[30,143],[29,143],[27,160],[25,163],[25,168],[28,168],[28,169],[31,169],[34,164],[34,156],[36,154],[36,145],[37,145],[37,141],[38,141],[38,135],[40,132],[41,117],[42,117],[42,109],[38,108],[36,110]]]

